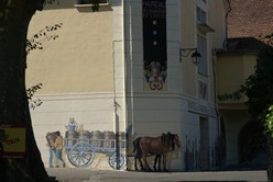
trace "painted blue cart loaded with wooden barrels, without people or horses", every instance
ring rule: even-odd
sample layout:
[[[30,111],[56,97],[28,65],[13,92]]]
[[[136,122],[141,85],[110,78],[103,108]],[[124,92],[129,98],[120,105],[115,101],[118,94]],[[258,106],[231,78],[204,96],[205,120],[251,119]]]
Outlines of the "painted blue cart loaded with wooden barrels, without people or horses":
[[[67,130],[64,148],[69,162],[74,167],[88,167],[96,153],[108,156],[108,163],[113,169],[123,169],[127,163],[124,133]]]

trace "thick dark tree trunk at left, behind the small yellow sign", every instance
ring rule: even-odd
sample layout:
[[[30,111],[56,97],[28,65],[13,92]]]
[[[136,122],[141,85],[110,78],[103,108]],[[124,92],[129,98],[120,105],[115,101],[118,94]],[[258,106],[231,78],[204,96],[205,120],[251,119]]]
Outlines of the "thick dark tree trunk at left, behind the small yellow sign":
[[[6,182],[50,181],[34,139],[25,91],[28,27],[42,4],[43,0],[0,1],[0,125],[26,128],[25,157],[0,159],[0,180]]]

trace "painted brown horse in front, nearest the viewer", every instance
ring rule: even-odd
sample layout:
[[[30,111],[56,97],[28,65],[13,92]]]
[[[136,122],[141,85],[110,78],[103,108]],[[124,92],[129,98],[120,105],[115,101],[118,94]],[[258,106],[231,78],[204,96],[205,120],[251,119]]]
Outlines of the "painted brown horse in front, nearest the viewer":
[[[139,146],[142,151],[142,158],[144,160],[144,170],[151,170],[146,158],[149,153],[153,153],[155,156],[163,156],[163,170],[166,170],[166,157],[167,152],[172,149],[174,150],[175,146],[181,147],[178,135],[176,134],[163,134],[160,137],[141,137],[139,139]]]

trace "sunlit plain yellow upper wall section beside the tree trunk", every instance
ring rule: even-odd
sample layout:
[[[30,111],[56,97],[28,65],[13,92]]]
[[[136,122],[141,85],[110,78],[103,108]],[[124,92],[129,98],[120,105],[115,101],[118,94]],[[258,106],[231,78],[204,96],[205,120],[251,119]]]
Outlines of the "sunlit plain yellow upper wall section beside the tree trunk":
[[[40,94],[113,90],[112,11],[94,13],[74,3],[47,5],[31,21],[29,38],[45,26],[63,23],[62,29],[48,32],[58,38],[43,41],[42,50],[28,55],[26,83],[43,83]]]

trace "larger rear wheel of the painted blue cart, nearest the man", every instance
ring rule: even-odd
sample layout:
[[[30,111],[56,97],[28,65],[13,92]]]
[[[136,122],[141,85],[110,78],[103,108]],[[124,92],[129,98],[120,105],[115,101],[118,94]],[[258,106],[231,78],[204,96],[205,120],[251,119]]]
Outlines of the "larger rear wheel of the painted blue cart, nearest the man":
[[[67,157],[74,167],[87,167],[95,158],[95,147],[89,143],[79,141],[72,147]]]

